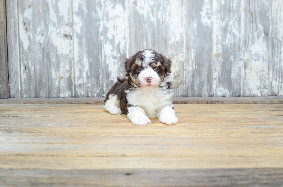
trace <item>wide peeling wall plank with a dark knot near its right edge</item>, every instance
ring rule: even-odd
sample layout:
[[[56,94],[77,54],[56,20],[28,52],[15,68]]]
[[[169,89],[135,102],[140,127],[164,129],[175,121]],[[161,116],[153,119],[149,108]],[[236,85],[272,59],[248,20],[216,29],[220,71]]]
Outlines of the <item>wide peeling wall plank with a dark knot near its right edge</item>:
[[[22,97],[71,97],[71,1],[18,3]]]

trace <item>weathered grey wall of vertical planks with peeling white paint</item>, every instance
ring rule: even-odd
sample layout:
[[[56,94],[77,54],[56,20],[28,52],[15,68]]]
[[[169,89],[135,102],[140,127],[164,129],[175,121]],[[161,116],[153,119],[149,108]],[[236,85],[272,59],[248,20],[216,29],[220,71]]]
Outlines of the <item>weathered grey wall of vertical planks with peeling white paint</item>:
[[[146,48],[175,96],[283,95],[283,0],[6,3],[11,97],[104,97]]]

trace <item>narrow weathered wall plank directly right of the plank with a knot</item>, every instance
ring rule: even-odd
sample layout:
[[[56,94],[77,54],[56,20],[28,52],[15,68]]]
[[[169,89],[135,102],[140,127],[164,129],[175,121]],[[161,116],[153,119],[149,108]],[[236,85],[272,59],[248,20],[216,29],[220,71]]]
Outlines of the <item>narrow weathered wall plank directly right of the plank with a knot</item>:
[[[99,4],[76,0],[72,4],[74,94],[73,97],[101,97]]]

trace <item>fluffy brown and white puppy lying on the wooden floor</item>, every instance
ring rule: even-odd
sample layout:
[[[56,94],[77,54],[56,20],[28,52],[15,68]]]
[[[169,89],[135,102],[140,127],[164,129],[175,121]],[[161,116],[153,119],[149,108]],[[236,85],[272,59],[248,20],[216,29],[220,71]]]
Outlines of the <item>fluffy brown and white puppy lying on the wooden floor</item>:
[[[127,114],[134,125],[146,125],[151,123],[149,118],[155,117],[168,125],[177,123],[168,76],[170,59],[147,49],[126,59],[124,66],[126,78],[118,78],[103,108],[112,115]]]

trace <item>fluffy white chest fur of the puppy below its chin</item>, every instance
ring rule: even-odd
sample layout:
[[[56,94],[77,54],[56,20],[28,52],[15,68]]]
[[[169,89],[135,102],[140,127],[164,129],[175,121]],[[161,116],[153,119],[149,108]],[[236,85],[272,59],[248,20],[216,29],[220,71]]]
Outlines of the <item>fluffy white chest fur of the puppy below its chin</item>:
[[[126,90],[128,103],[142,108],[149,118],[158,117],[163,107],[172,106],[173,93],[166,85],[169,81],[169,78],[165,78],[159,87],[152,90]]]

